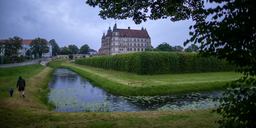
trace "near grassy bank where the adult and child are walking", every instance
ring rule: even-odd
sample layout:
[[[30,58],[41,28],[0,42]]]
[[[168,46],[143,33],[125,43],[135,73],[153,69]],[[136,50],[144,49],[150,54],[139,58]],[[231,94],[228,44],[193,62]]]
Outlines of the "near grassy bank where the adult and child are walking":
[[[0,69],[0,127],[218,127],[221,118],[211,110],[75,113],[48,111],[38,90],[53,69],[39,64]],[[15,88],[18,77],[26,80],[25,98]],[[10,87],[16,92],[8,94]]]

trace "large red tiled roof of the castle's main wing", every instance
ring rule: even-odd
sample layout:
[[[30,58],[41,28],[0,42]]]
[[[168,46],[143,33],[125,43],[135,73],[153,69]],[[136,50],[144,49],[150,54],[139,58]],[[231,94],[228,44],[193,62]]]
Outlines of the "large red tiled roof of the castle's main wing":
[[[118,29],[119,35],[126,37],[140,37],[140,38],[147,38],[148,33],[147,30],[134,30],[134,29]]]

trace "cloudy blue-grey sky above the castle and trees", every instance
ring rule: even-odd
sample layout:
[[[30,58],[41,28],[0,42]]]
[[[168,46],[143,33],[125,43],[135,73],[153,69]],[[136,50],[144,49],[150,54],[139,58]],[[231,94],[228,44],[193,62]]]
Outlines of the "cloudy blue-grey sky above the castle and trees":
[[[75,44],[79,49],[88,44],[91,49],[99,50],[103,32],[107,33],[115,22],[117,28],[140,30],[147,28],[151,45],[155,48],[161,43],[171,46],[181,45],[190,39],[190,20],[172,22],[170,18],[147,20],[135,24],[132,18],[126,20],[106,19],[98,16],[99,7],[91,7],[86,0],[0,0],[0,40],[13,38],[50,41],[54,39],[59,47]],[[208,5],[212,6],[212,5]],[[187,44],[184,48],[187,48]]]

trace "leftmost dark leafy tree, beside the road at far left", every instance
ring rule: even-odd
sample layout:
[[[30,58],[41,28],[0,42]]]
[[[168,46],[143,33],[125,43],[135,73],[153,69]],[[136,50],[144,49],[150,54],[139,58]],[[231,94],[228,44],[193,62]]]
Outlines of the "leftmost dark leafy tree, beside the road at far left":
[[[14,60],[19,55],[18,51],[22,48],[22,39],[18,36],[5,40],[5,55]]]

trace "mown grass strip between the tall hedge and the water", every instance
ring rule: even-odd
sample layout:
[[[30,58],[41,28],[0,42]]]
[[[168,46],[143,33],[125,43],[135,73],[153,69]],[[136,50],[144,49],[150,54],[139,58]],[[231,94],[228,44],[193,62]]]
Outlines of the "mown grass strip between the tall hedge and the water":
[[[130,96],[218,89],[243,76],[235,72],[137,75],[66,62],[48,66],[70,69],[108,92]]]

